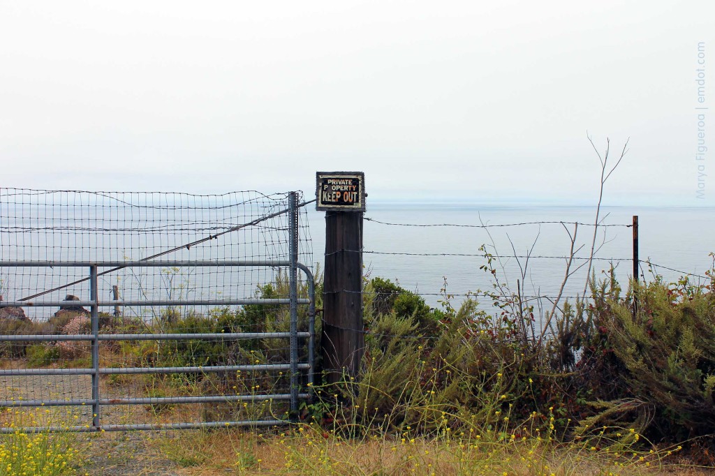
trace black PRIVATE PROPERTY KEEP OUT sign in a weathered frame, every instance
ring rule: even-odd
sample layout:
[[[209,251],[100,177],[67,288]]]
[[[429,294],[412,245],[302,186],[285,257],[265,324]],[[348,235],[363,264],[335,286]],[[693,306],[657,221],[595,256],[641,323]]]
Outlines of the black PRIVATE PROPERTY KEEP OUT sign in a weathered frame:
[[[320,211],[364,212],[363,172],[317,172],[315,209]]]

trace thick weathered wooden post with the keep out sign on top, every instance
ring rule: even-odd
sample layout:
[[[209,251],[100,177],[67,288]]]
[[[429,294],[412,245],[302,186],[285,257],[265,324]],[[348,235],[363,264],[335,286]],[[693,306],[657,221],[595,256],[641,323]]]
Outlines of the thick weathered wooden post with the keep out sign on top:
[[[318,211],[325,211],[322,362],[327,382],[360,370],[363,326],[363,172],[317,172]]]

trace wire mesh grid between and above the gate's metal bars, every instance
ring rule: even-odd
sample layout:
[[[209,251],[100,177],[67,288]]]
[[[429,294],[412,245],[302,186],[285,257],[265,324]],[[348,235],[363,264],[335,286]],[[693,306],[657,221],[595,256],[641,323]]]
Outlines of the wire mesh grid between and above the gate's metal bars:
[[[287,332],[287,306],[221,305],[225,299],[288,298],[287,267],[222,266],[226,261],[290,260],[289,194],[231,192],[194,195],[165,192],[83,192],[0,189],[0,261],[166,262],[166,267],[99,267],[98,297],[110,302],[202,301],[203,306],[127,306],[99,309],[102,334]],[[300,203],[300,199],[299,199]],[[312,267],[305,207],[299,208],[298,262]],[[275,216],[272,216],[275,215]],[[268,217],[268,218],[266,218]],[[252,224],[255,223],[255,224]],[[242,227],[242,225],[250,226]],[[175,267],[177,261],[212,261],[212,267]],[[59,302],[90,300],[88,267],[3,267],[0,299]],[[307,297],[298,272],[300,297]],[[68,285],[69,284],[69,285]],[[29,299],[28,299],[29,298]],[[89,308],[0,308],[0,334],[89,334]],[[299,332],[307,310],[299,309]],[[115,310],[116,309],[116,310]],[[305,342],[305,339],[302,339]],[[179,339],[102,341],[101,367],[211,367],[277,365],[290,362],[290,342],[276,339]],[[91,367],[87,341],[0,342],[5,370]],[[306,360],[306,345],[299,350]],[[9,374],[11,372],[6,372]],[[105,374],[104,403],[145,397],[147,405],[107,405],[104,425],[207,422],[270,417],[265,405],[243,405],[238,395],[289,392],[288,370]],[[91,398],[91,375],[3,375],[0,400]],[[170,397],[228,396],[222,402],[174,405]],[[231,400],[231,399],[234,400]],[[151,403],[151,402],[157,403]],[[274,405],[275,406],[275,405]],[[91,407],[68,406],[82,425]],[[263,410],[261,410],[261,408]],[[276,407],[277,408],[277,407]],[[276,408],[273,411],[276,411]],[[254,412],[255,415],[248,415]],[[262,415],[257,415],[262,413]]]

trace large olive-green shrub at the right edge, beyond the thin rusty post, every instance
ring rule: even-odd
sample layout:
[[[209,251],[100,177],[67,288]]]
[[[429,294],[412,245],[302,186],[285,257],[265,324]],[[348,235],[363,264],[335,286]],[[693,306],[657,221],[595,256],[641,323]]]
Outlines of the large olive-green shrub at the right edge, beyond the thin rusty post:
[[[615,402],[608,418],[631,421],[656,440],[697,437],[715,426],[715,296],[687,279],[636,284],[631,299],[606,297],[596,308],[593,349],[601,382]],[[626,400],[627,399],[627,400]],[[611,405],[613,407],[613,405]]]

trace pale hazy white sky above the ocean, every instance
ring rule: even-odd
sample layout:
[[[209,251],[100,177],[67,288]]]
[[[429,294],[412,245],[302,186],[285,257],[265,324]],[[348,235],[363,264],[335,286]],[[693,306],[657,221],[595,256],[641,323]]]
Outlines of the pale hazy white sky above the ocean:
[[[607,204],[715,206],[714,84],[711,0],[0,0],[0,186],[591,204],[588,131]]]

